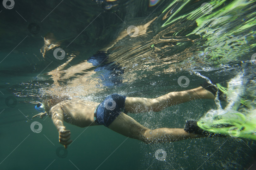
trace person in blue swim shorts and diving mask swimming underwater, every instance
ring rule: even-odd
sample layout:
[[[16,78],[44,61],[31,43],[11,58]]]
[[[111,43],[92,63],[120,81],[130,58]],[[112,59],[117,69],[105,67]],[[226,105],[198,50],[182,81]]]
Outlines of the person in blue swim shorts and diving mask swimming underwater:
[[[46,113],[52,118],[59,132],[59,143],[65,148],[72,142],[70,130],[63,122],[78,127],[104,125],[124,136],[141,140],[145,143],[174,142],[182,139],[201,138],[204,135],[188,133],[182,128],[149,129],[136,122],[127,113],[159,112],[169,106],[184,103],[193,99],[215,99],[216,91],[198,87],[186,91],[171,92],[155,99],[126,97],[119,94],[108,95],[102,103],[85,100],[65,100],[59,103],[51,100],[39,103],[35,108],[43,117]]]

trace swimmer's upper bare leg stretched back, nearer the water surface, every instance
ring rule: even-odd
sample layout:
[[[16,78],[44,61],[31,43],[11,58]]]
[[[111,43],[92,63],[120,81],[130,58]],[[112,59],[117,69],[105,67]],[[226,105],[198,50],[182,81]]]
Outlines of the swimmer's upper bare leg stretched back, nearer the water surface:
[[[171,92],[155,99],[126,97],[125,110],[130,113],[161,111],[171,105],[177,105],[194,99],[214,99],[215,96],[203,87],[186,91]]]

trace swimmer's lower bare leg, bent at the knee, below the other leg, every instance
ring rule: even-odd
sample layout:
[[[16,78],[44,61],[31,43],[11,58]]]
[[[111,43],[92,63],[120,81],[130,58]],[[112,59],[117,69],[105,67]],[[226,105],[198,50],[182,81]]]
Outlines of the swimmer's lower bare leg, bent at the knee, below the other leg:
[[[158,128],[151,130],[121,113],[109,126],[111,130],[145,143],[167,143],[182,139],[201,138],[202,135],[187,133],[180,128]]]

